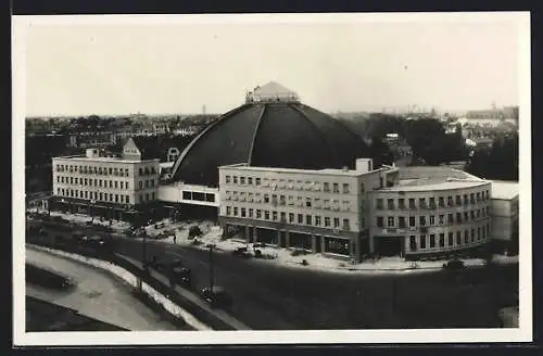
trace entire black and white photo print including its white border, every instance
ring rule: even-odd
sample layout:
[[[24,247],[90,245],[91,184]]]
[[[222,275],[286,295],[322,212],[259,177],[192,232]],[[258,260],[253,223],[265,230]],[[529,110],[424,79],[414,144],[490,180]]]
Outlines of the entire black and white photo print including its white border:
[[[532,341],[528,12],[12,22],[15,345]]]

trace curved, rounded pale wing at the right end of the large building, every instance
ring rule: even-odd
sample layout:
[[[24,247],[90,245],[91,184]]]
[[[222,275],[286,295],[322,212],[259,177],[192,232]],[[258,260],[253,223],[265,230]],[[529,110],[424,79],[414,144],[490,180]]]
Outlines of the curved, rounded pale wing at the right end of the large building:
[[[419,258],[479,249],[491,237],[491,182],[450,167],[400,168],[369,194],[370,251]]]

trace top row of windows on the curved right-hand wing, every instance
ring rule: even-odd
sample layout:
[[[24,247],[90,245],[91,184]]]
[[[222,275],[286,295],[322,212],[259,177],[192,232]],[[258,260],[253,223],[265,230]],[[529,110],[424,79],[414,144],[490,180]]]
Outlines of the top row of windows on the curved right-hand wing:
[[[471,193],[471,194],[464,194],[464,195],[456,195],[455,200],[453,201],[453,195],[449,195],[446,198],[446,206],[445,206],[445,196],[439,196],[438,198],[438,205],[435,205],[435,198],[431,196],[428,199],[428,204],[426,203],[426,198],[419,198],[418,199],[418,208],[435,208],[435,207],[451,207],[451,206],[460,206],[460,205],[468,205],[468,204],[476,204],[477,202],[483,202],[490,199],[490,192],[487,190],[484,192],[478,192],[478,193]],[[405,199],[400,198],[397,199],[387,199],[387,208],[389,211],[395,209],[396,206],[397,208],[417,208],[417,205],[415,205],[415,199],[409,198],[407,200],[408,205],[405,203]],[[384,199],[377,199],[376,200],[376,206],[378,209],[383,209],[384,208]]]

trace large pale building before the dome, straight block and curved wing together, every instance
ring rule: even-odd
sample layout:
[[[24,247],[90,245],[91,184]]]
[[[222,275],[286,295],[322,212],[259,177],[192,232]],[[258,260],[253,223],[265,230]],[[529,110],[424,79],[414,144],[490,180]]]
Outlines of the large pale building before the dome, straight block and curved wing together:
[[[449,167],[237,164],[219,167],[219,223],[248,241],[361,260],[456,253],[490,239],[491,183]]]

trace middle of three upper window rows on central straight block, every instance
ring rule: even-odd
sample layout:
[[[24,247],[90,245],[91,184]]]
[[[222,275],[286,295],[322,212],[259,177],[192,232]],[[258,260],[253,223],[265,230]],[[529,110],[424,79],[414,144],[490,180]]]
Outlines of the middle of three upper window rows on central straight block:
[[[350,202],[348,200],[329,200],[319,198],[303,198],[298,195],[294,200],[294,195],[277,195],[277,194],[261,194],[261,193],[245,193],[245,192],[230,192],[226,191],[225,200],[229,201],[240,201],[249,203],[264,203],[272,205],[288,205],[288,206],[299,206],[307,208],[324,208],[332,211],[344,211],[349,212],[351,209]]]

